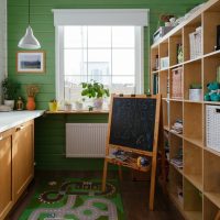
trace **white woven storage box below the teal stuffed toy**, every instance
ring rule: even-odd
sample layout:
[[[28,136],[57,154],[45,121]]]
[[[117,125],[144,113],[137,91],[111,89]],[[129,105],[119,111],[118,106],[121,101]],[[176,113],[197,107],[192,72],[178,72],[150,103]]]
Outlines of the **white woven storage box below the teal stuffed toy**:
[[[206,106],[207,147],[220,152],[220,106]]]

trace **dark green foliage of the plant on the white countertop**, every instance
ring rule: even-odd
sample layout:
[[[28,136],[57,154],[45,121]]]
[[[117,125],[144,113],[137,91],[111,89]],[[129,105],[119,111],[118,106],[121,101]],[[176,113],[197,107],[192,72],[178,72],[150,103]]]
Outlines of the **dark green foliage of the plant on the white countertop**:
[[[2,90],[3,90],[4,99],[15,100],[18,98],[16,92],[20,88],[19,84],[16,84],[15,81],[13,81],[9,78],[6,78],[6,79],[3,79],[1,86],[2,86]]]

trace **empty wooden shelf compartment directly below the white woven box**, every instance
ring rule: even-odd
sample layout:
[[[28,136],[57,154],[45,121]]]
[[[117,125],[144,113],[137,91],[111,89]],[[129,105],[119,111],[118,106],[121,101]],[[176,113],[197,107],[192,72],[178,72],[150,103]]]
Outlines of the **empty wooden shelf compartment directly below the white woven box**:
[[[204,152],[204,190],[206,196],[220,208],[220,157]]]

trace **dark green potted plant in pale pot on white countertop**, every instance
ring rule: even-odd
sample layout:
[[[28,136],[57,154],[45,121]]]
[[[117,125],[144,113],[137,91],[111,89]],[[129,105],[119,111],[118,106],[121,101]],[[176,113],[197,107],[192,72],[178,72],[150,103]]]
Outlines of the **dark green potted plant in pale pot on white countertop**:
[[[19,90],[19,84],[9,78],[6,78],[3,79],[1,86],[3,90],[4,105],[13,109],[14,100],[18,98],[16,92]]]

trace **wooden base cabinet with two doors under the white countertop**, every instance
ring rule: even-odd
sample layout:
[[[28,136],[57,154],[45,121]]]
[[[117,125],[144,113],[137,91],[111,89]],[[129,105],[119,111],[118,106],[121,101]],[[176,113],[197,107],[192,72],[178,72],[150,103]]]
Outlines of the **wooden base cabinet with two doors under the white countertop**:
[[[34,122],[0,133],[0,220],[34,176]]]

